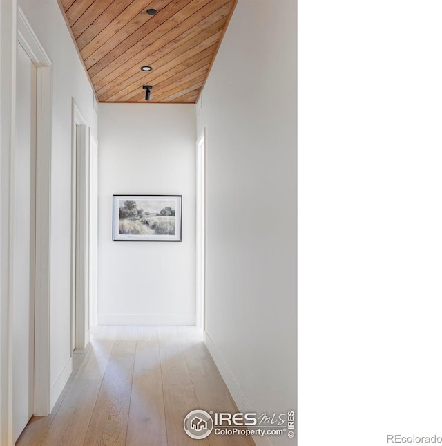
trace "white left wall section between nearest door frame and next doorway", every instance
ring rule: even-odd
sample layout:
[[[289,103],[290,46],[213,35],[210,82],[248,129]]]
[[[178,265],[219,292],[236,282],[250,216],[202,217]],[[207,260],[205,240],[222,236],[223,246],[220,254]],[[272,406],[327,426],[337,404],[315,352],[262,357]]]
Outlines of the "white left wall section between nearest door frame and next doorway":
[[[72,99],[97,134],[93,90],[56,0],[19,6],[52,62],[52,177],[50,270],[51,405],[70,374],[70,181]]]

